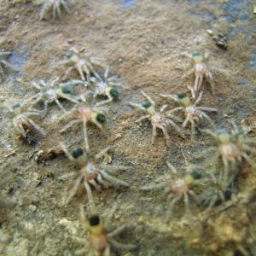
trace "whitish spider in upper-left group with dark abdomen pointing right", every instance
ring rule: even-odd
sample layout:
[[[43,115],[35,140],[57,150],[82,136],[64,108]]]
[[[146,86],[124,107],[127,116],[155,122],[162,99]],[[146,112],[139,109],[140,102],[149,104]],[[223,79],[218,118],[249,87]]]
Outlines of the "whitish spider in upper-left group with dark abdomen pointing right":
[[[67,101],[77,103],[78,101],[71,96],[73,94],[73,84],[77,84],[76,80],[70,81],[65,84],[56,84],[59,79],[48,81],[47,83],[44,80],[40,80],[39,83],[32,82],[32,85],[40,90],[33,98],[34,101],[32,105],[37,104],[38,102],[44,102],[44,116],[47,113],[48,104],[55,102],[62,111],[66,112],[65,108],[61,105],[59,98],[64,98]]]

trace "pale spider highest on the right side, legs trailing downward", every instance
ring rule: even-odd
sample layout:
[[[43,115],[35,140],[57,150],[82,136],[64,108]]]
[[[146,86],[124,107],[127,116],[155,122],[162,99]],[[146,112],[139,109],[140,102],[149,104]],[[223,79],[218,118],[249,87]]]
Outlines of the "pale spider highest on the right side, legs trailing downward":
[[[212,73],[207,67],[205,60],[207,59],[207,55],[203,56],[197,50],[193,51],[191,54],[187,52],[183,52],[182,55],[185,55],[192,59],[194,62],[194,67],[189,70],[189,72],[185,73],[185,75],[190,75],[191,73],[195,73],[195,91],[201,90],[201,85],[203,83],[204,77],[207,79],[207,82],[211,85],[212,94],[215,93],[215,84],[212,78]]]

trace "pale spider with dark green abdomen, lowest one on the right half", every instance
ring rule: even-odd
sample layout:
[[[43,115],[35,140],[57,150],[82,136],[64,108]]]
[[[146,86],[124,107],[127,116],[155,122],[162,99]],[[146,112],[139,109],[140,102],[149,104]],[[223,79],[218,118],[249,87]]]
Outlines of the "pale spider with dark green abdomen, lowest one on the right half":
[[[178,174],[176,168],[172,166],[171,163],[167,161],[166,164],[174,174]],[[192,196],[195,201],[197,201],[195,192],[192,190],[192,188],[199,183],[199,179],[201,179],[201,172],[187,171],[187,173],[184,175],[179,174],[179,177],[172,177],[171,180],[168,179],[158,184],[144,186],[141,188],[141,190],[150,191],[164,189],[164,194],[167,195],[168,204],[166,220],[169,220],[172,215],[173,207],[182,199],[185,206],[185,212],[189,212],[189,195]]]

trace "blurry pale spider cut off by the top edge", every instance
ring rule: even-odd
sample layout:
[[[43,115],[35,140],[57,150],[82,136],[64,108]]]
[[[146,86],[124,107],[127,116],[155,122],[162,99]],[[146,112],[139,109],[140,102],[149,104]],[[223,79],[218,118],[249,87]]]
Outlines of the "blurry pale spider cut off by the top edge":
[[[61,7],[66,9],[67,13],[70,14],[69,5],[72,3],[70,0],[44,0],[43,7],[40,13],[40,20],[43,20],[45,15],[50,9],[53,9],[53,18],[55,15],[61,17]]]

